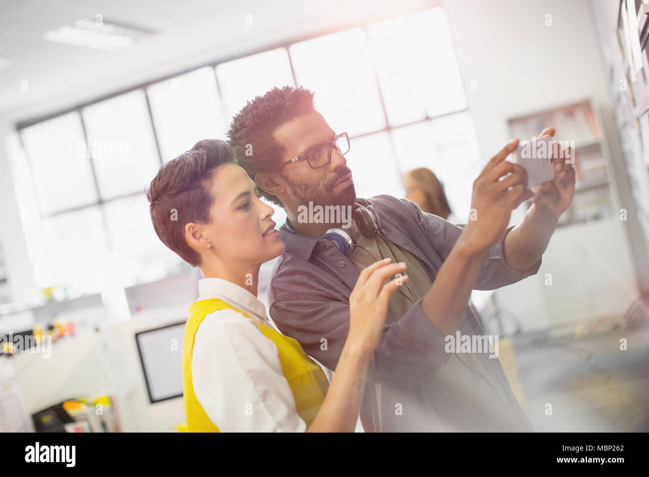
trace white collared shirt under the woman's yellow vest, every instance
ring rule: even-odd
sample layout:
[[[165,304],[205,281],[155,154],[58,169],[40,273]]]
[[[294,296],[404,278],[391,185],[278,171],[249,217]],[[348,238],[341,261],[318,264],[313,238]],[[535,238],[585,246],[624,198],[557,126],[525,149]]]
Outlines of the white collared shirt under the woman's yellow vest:
[[[225,308],[199,325],[191,358],[196,398],[221,432],[304,432],[293,391],[282,374],[275,343],[260,324],[273,325],[263,303],[221,278],[199,280],[199,300],[221,299]]]

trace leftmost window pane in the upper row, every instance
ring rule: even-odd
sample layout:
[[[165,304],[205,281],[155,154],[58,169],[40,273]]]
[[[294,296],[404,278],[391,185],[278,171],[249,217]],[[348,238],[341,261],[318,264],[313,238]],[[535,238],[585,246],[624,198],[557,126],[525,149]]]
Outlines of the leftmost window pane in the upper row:
[[[21,136],[42,214],[97,201],[79,113],[27,127]]]

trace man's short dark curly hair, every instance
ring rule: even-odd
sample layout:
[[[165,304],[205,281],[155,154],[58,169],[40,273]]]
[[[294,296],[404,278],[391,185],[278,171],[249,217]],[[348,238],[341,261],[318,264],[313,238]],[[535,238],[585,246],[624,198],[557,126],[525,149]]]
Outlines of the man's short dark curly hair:
[[[267,172],[279,164],[284,146],[273,138],[273,132],[291,119],[315,110],[313,92],[301,86],[273,88],[243,106],[234,116],[228,138],[236,162],[254,180],[258,173]],[[275,195],[261,190],[269,201],[282,206]]]

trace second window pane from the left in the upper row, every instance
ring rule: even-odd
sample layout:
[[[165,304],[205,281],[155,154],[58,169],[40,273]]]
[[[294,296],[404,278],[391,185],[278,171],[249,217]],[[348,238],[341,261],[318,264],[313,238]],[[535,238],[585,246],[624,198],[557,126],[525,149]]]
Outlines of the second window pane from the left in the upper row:
[[[143,192],[160,167],[142,90],[82,110],[103,199]]]

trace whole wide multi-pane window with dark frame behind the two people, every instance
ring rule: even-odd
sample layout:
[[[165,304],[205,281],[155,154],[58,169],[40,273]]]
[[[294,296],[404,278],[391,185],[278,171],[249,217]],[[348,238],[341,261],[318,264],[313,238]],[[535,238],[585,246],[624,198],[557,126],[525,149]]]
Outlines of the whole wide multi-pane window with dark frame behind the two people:
[[[14,169],[40,286],[73,297],[99,291],[103,276],[130,286],[181,269],[154,234],[145,187],[197,141],[225,139],[247,101],[296,80],[349,133],[358,197],[402,197],[401,175],[428,167],[468,217],[482,161],[446,16],[433,8],[209,64],[21,128],[27,159]],[[286,213],[273,208],[280,226]]]

